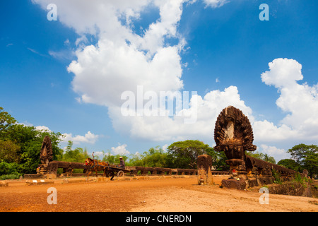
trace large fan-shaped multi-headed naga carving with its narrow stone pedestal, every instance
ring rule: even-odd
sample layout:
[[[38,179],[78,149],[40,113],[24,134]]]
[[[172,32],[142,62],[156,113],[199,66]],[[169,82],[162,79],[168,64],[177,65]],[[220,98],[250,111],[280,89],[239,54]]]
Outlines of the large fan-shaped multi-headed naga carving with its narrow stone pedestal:
[[[214,141],[214,149],[224,151],[228,157],[226,162],[231,172],[235,169],[246,174],[245,150],[254,151],[257,146],[253,145],[254,136],[249,119],[240,109],[229,106],[220,112],[216,119]]]

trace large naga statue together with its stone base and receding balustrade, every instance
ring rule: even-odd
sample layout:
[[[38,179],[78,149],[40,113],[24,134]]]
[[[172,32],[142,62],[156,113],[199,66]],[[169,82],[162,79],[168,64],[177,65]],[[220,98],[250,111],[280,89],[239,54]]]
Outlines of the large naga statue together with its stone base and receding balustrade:
[[[249,119],[235,107],[229,106],[220,112],[214,129],[217,151],[224,151],[230,165],[230,178],[223,179],[221,186],[235,189],[272,184],[277,177],[289,180],[295,174],[292,169],[265,162],[245,155],[245,150],[254,151],[254,136]],[[302,174],[302,177],[305,174]]]

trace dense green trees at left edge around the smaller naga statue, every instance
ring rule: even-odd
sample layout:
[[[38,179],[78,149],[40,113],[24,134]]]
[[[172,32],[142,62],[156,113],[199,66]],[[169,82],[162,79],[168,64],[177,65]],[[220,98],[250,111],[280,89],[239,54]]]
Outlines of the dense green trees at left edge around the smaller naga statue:
[[[34,126],[17,124],[16,119],[8,112],[4,112],[0,107],[0,162],[2,172],[14,167],[13,171],[19,173],[34,173],[40,164],[40,150],[43,138],[48,135],[52,141],[53,159],[57,160],[57,155],[61,153],[59,141],[61,133],[53,131],[38,131]]]

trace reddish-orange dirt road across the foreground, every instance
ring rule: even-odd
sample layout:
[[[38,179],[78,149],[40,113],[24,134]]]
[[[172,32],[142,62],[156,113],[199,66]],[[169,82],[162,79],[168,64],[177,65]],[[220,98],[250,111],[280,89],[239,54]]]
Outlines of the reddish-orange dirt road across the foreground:
[[[57,204],[47,203],[49,187],[57,189]],[[318,211],[317,198],[269,194],[269,204],[261,205],[260,196],[199,186],[196,177],[37,186],[15,182],[0,187],[0,211]]]

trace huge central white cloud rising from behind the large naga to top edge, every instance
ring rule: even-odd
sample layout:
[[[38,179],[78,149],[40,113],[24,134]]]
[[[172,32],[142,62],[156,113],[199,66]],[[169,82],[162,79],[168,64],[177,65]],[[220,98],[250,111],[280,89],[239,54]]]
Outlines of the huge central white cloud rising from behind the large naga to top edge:
[[[49,4],[49,0],[33,2],[42,8]],[[199,104],[195,124],[184,124],[187,114],[196,110],[191,103],[189,109],[182,110],[181,117],[122,116],[120,107],[124,100],[120,97],[126,90],[136,93],[138,85],[142,85],[144,93],[182,90],[182,62],[179,53],[186,42],[177,32],[177,25],[183,3],[182,0],[96,0],[93,3],[56,1],[58,20],[81,35],[76,44],[84,41],[76,51],[77,60],[72,61],[68,67],[68,71],[75,75],[73,90],[81,95],[76,100],[107,106],[114,129],[134,138],[152,141],[189,138],[193,134],[210,138],[213,120],[228,105],[237,105],[247,110],[247,113],[252,113],[240,100],[237,88],[231,86],[224,91],[211,91],[204,97],[195,96]],[[218,1],[213,4],[221,6],[224,3]],[[159,9],[160,18],[150,23],[143,34],[137,35],[133,30],[134,20],[139,19],[143,10],[149,6]],[[83,46],[88,42],[86,33],[98,37],[98,43]],[[167,38],[177,42],[167,44]],[[212,126],[206,126],[207,123]],[[88,140],[86,136],[68,136],[73,141]]]

